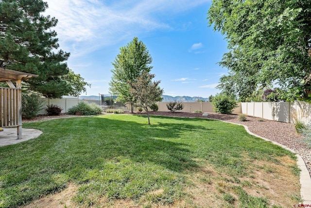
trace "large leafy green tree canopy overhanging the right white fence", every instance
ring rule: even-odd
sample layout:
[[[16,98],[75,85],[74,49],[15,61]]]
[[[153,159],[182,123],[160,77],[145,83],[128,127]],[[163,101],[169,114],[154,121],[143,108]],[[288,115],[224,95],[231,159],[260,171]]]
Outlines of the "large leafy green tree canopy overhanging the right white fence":
[[[276,84],[287,99],[311,101],[310,17],[310,0],[213,0],[207,19],[229,49],[218,87],[245,100]]]

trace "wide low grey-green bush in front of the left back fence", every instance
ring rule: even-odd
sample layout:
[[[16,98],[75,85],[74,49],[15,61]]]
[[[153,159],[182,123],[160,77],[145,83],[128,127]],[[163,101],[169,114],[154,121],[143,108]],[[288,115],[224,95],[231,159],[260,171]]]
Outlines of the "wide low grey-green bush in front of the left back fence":
[[[78,105],[68,109],[68,114],[97,115],[100,113],[102,113],[102,108],[95,103],[79,102]]]

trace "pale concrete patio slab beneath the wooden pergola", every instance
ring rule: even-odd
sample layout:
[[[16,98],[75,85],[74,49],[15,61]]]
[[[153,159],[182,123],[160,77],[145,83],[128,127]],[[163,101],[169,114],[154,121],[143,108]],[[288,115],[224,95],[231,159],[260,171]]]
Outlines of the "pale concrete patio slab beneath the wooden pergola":
[[[27,141],[38,137],[42,132],[36,129],[22,129],[22,139],[17,139],[16,128],[3,128],[3,132],[0,132],[0,147],[17,144],[19,142]]]

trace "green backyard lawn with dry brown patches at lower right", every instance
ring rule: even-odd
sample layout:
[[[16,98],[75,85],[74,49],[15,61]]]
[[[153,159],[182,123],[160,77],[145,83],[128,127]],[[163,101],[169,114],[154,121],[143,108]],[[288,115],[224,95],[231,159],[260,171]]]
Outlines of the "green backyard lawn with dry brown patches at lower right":
[[[147,122],[107,114],[23,124],[43,134],[0,147],[0,208],[69,184],[78,187],[75,207],[279,208],[301,200],[294,154],[242,126],[160,116]]]

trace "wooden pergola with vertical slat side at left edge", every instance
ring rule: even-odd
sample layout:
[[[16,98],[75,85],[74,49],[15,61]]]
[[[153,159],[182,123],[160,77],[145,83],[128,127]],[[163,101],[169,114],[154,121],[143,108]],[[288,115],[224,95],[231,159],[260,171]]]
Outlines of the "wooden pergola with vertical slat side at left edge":
[[[22,138],[21,81],[32,77],[37,75],[0,68],[0,81],[9,85],[9,88],[0,87],[0,127],[16,126],[17,139]]]

